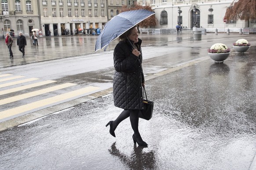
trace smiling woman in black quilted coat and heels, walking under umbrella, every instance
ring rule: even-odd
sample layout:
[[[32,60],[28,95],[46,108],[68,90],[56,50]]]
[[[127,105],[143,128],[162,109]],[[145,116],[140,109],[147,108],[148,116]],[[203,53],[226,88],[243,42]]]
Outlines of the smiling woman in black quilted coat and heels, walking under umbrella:
[[[116,120],[110,121],[110,134],[114,137],[115,129],[124,119],[130,117],[134,143],[147,146],[139,133],[139,112],[143,110],[143,87],[145,79],[142,69],[142,40],[138,38],[136,26],[120,35],[121,41],[114,49],[113,96],[114,105],[124,109]]]

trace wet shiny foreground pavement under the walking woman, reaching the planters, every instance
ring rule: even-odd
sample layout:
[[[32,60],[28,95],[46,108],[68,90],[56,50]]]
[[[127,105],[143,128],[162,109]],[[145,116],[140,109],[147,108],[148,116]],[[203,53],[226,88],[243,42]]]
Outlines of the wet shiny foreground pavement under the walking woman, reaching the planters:
[[[139,122],[148,148],[134,146],[128,119],[117,138],[109,134],[106,123],[121,112],[109,94],[1,131],[0,169],[249,170],[256,154],[255,54],[251,46],[224,63],[202,60],[152,75],[146,90],[154,116]]]

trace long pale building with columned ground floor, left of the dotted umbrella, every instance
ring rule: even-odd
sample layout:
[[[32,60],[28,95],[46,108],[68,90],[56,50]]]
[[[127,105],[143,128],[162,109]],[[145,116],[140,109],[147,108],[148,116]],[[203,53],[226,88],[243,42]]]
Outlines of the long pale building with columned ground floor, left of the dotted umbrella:
[[[102,28],[107,22],[106,0],[40,0],[41,29],[48,36]],[[82,30],[82,31],[78,31]],[[86,32],[87,33],[87,32]]]

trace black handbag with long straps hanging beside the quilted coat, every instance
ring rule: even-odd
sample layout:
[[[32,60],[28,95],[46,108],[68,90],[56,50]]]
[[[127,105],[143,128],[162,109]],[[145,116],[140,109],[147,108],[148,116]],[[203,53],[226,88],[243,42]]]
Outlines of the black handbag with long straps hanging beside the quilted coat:
[[[154,102],[148,100],[147,96],[146,96],[146,99],[144,99],[144,93],[145,93],[145,96],[146,96],[145,87],[143,87],[143,105],[144,105],[144,109],[140,110],[139,117],[143,118],[145,120],[150,120],[151,117],[152,117],[152,113],[153,113]]]

